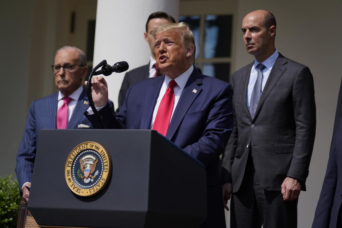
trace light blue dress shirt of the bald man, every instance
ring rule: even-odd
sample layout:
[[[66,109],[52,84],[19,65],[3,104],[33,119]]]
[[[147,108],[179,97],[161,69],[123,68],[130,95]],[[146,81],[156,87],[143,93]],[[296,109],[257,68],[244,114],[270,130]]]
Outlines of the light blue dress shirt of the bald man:
[[[278,51],[276,50],[271,56],[269,56],[262,64],[264,64],[265,68],[262,71],[262,79],[261,79],[261,93],[264,90],[266,81],[268,79],[269,73],[272,70],[272,67],[274,63],[276,62],[277,58],[279,56]],[[259,62],[257,59],[254,59],[254,65],[252,66],[251,69],[251,74],[249,76],[249,82],[248,82],[248,87],[247,87],[247,107],[249,109],[249,104],[251,102],[251,97],[252,97],[252,92],[254,88],[254,84],[257,81],[258,78],[258,66]],[[260,94],[261,96],[261,94]]]

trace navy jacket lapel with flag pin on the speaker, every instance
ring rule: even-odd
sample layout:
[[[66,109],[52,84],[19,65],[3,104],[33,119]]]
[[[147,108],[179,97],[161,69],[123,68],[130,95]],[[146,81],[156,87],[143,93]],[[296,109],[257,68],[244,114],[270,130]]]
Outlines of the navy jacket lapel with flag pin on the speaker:
[[[194,69],[191,73],[188,81],[185,84],[184,90],[182,91],[181,97],[178,100],[177,106],[172,115],[170,121],[169,129],[166,133],[166,137],[171,140],[174,133],[176,132],[179,124],[183,120],[186,112],[188,111],[191,104],[194,102],[195,98],[200,94],[202,90],[202,79],[198,78],[199,73]],[[193,90],[197,90],[193,93]]]

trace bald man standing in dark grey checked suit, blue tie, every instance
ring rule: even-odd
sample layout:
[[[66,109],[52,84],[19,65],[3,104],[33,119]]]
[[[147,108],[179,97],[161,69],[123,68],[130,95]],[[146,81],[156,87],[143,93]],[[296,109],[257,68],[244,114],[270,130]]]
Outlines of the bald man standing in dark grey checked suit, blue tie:
[[[222,162],[224,203],[233,193],[232,228],[295,228],[316,132],[313,77],[275,49],[272,13],[247,14],[242,32],[255,60],[231,77],[235,115]]]

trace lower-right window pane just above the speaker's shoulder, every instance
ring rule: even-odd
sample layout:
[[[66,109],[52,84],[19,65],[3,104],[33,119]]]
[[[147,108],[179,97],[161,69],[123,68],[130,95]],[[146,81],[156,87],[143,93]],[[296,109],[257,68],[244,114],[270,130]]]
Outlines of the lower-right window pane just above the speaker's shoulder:
[[[229,82],[230,63],[203,63],[202,73]]]

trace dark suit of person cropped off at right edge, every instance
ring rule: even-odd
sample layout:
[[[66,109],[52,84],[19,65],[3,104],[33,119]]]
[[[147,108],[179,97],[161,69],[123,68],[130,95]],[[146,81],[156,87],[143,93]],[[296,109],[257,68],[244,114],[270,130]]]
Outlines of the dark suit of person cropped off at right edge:
[[[327,172],[316,207],[312,228],[337,226],[342,202],[342,119],[340,119],[330,150]]]

